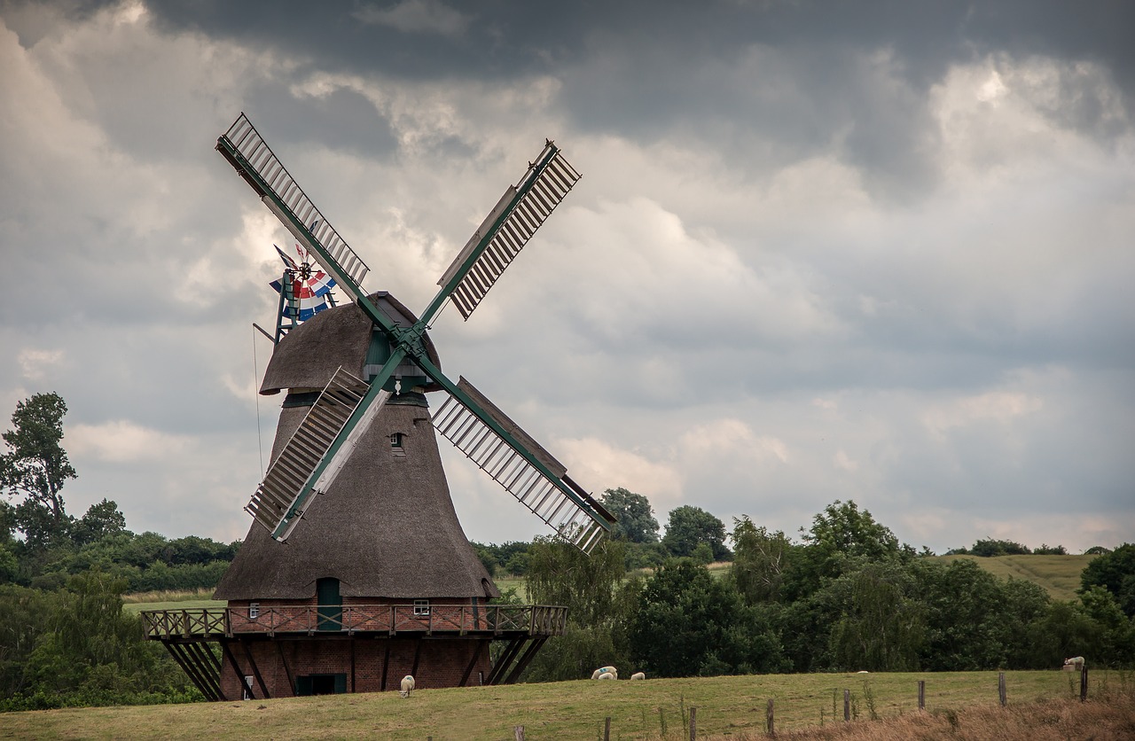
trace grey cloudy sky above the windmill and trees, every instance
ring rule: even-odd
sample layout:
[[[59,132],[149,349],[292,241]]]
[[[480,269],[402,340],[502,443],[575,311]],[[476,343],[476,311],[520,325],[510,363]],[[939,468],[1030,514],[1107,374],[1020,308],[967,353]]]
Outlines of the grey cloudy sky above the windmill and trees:
[[[550,137],[583,179],[432,336],[585,487],[789,533],[854,499],[939,551],[1135,540],[1132,28],[1121,1],[0,0],[0,420],[66,398],[76,515],[243,537],[286,237],[217,136],[245,111],[415,309]],[[541,532],[442,445],[470,538]]]

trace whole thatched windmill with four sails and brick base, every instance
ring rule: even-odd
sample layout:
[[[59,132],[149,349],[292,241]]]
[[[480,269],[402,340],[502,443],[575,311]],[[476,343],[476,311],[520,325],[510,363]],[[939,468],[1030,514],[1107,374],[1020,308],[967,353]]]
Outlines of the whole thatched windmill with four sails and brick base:
[[[443,373],[427,330],[446,302],[469,319],[580,175],[546,142],[414,315],[363,289],[368,266],[247,117],[217,150],[351,303],[277,338],[261,394],[288,393],[245,507],[249,537],[215,595],[228,607],[145,614],[150,637],[213,699],[396,689],[387,680],[403,674],[419,688],[515,681],[566,612],[488,604],[499,592],[456,520],[435,430],[585,553],[614,517],[472,384]],[[432,414],[426,394],[444,395]]]

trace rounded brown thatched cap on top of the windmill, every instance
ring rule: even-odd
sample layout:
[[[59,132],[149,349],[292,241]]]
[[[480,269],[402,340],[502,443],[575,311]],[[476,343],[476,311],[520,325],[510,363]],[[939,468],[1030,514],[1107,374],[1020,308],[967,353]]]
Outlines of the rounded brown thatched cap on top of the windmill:
[[[396,325],[410,327],[418,321],[413,312],[385,290],[369,298]],[[260,393],[267,396],[285,388],[323,388],[339,365],[362,378],[371,326],[370,317],[354,303],[319,312],[289,331],[276,346]],[[440,368],[437,348],[429,335],[426,336],[426,352]]]

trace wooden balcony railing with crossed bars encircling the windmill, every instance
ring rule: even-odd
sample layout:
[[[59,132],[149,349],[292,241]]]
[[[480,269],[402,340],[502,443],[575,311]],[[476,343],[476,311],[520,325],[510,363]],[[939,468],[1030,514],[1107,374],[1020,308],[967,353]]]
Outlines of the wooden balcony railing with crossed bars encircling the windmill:
[[[549,605],[303,605],[144,611],[146,637],[232,638],[247,633],[562,635],[568,608]]]

